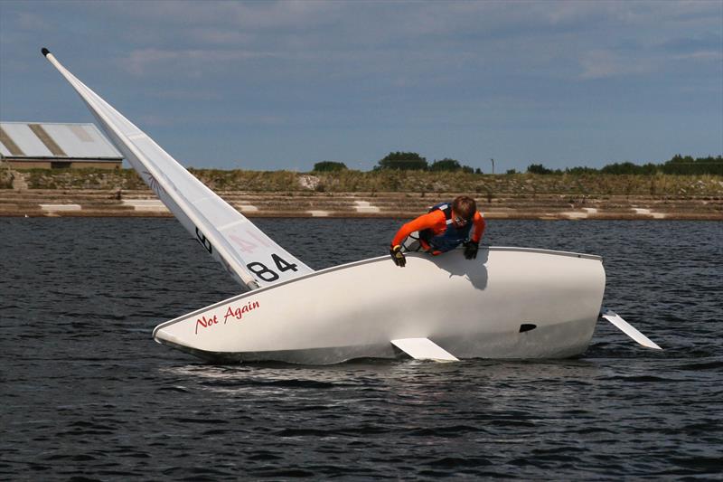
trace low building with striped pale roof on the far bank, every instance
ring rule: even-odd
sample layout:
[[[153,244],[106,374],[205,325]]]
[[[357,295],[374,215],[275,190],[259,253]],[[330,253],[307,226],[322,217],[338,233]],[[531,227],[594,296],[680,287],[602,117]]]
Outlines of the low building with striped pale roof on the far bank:
[[[0,157],[14,169],[120,169],[123,162],[93,124],[0,122]]]

